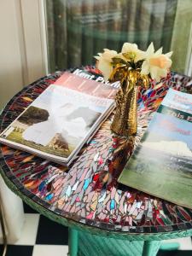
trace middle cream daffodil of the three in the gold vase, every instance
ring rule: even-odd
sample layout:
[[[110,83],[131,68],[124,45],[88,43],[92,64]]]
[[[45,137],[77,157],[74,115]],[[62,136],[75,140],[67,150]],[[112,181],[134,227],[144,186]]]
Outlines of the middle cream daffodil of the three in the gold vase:
[[[124,55],[126,61],[133,60],[135,63],[145,59],[146,53],[141,49],[138,49],[137,44],[125,43],[121,49],[122,55]]]

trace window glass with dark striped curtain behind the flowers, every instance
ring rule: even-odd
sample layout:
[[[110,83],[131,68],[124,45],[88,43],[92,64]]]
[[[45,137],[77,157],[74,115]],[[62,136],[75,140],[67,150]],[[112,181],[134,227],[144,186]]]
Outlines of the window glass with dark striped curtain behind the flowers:
[[[50,72],[94,64],[103,48],[125,42],[173,50],[172,69],[186,70],[191,0],[48,0],[46,12]]]

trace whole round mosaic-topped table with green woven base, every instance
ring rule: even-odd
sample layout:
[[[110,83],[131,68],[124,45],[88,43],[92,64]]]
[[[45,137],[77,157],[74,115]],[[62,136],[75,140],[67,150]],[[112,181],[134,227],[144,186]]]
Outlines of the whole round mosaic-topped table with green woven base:
[[[1,114],[1,131],[61,73],[38,79],[15,95]],[[112,113],[69,168],[0,145],[4,181],[38,212],[69,227],[70,255],[154,256],[161,240],[192,235],[192,210],[117,182],[168,87],[191,93],[192,79],[171,73],[160,84],[140,89],[137,136],[114,136]]]

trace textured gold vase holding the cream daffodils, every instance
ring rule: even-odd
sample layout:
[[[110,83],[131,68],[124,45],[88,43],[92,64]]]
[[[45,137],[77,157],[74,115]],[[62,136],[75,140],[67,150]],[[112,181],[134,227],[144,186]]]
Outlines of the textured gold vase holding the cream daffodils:
[[[115,67],[110,77],[111,81],[120,81],[117,92],[116,112],[111,130],[121,136],[137,134],[137,87],[148,88],[148,76],[142,75],[140,69]]]

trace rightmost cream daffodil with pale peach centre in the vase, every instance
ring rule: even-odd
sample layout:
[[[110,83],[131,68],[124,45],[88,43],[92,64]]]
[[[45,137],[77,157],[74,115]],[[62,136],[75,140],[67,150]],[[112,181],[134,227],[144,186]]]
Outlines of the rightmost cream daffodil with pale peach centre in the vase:
[[[154,44],[151,43],[146,51],[146,60],[143,61],[141,73],[146,75],[150,73],[151,78],[159,82],[161,78],[166,77],[172,66],[171,56],[172,51],[163,55],[162,48],[154,52]]]

